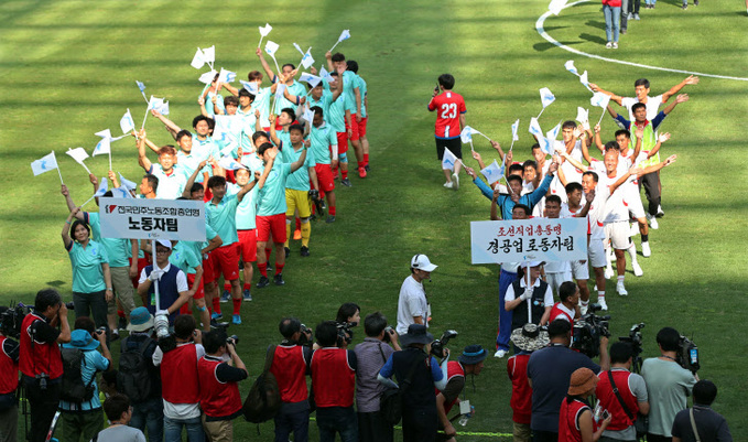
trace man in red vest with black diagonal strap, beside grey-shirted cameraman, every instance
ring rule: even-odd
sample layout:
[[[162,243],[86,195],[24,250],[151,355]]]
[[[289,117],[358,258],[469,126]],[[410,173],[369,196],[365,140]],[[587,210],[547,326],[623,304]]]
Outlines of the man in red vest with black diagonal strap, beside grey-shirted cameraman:
[[[610,370],[600,373],[600,381],[595,390],[600,407],[608,410],[611,417],[600,438],[601,442],[636,441],[633,422],[639,413],[649,413],[644,379],[636,373],[629,373],[632,359],[630,344],[617,342],[610,346]]]

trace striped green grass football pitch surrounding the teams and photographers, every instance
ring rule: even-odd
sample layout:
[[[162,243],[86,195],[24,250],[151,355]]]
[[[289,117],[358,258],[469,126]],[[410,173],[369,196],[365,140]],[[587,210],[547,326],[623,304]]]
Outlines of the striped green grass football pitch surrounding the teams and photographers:
[[[712,2],[680,10],[680,1],[659,1],[641,10],[622,35],[620,48],[605,50],[599,3],[582,3],[545,22],[557,41],[590,54],[647,65],[728,76],[748,73],[748,21],[739,1]],[[541,118],[548,130],[571,119],[576,107],[589,107],[589,94],[564,71],[574,60],[590,82],[630,95],[633,80],[647,77],[652,94],[666,90],[685,74],[650,71],[570,54],[540,37],[534,23],[546,2],[381,0],[357,2],[258,3],[4,1],[0,3],[0,168],[4,184],[0,214],[0,301],[33,302],[44,287],[71,295],[71,267],[59,239],[66,216],[54,172],[34,177],[31,161],[55,150],[74,201],[90,196],[85,171],[64,152],[82,145],[89,152],[94,132],[119,132],[118,121],[130,108],[139,125],[144,104],[134,80],[147,94],[165,96],[171,118],[188,127],[198,114],[200,72],[189,66],[195,47],[216,45],[216,66],[245,78],[259,68],[253,55],[257,26],[273,25],[279,62],[299,62],[292,42],[313,46],[317,67],[343,29],[351,39],[338,48],[358,61],[369,87],[371,174],[353,177],[339,188],[338,220],[315,223],[312,257],[302,260],[299,245],[289,259],[284,288],[254,290],[242,305],[245,325],[240,355],[253,378],[270,343],[280,341],[278,321],[296,315],[314,325],[334,319],[340,303],[355,301],[362,316],[380,310],[394,320],[400,284],[415,254],[427,254],[440,268],[426,284],[433,304],[432,330],[460,334],[452,345],[479,343],[492,348],[498,310],[498,266],[471,266],[469,222],[487,219],[489,204],[467,179],[458,192],[442,187],[435,161],[434,115],[426,103],[435,78],[449,72],[455,90],[467,103],[468,125],[511,141],[510,125],[520,118],[517,160],[530,158],[527,126],[540,111],[538,89],[550,87],[556,101]],[[600,43],[603,42],[603,43]],[[748,310],[748,213],[745,123],[748,83],[703,77],[684,90],[680,105],[662,128],[673,134],[664,145],[677,163],[663,171],[663,208],[659,230],[650,234],[652,258],[640,258],[643,278],[627,274],[628,298],[608,289],[614,336],[646,322],[644,356],[654,356],[654,335],[665,325],[693,335],[700,346],[702,378],[720,388],[714,408],[730,424],[735,440],[748,438],[744,398]],[[599,109],[590,110],[590,119]],[[604,131],[611,138],[609,119]],[[149,137],[171,138],[149,118]],[[476,138],[479,140],[478,138]],[[133,180],[140,173],[131,140],[112,144],[113,169]],[[478,141],[476,150],[490,148]],[[353,154],[351,154],[353,157]],[[470,160],[468,164],[474,162]],[[98,176],[107,160],[87,164]],[[89,211],[94,205],[87,206]],[[630,266],[629,266],[630,269]],[[360,327],[359,327],[360,328]],[[362,338],[358,331],[356,342]],[[116,351],[118,351],[116,346]],[[741,375],[742,373],[742,375]],[[246,381],[242,391],[250,387]],[[510,384],[506,360],[490,358],[484,373],[468,382],[467,397],[477,416],[466,430],[510,433]],[[237,421],[237,440],[269,440],[272,424]],[[312,438],[316,429],[312,424]],[[496,436],[466,435],[460,440]],[[506,439],[506,438],[503,438]]]

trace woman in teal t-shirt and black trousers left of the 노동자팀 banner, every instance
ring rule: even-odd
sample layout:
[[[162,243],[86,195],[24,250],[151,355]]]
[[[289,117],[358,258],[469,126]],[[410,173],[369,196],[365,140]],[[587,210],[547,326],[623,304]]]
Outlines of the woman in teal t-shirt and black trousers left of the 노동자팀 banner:
[[[78,212],[80,207],[71,211],[62,231],[73,266],[75,317],[91,316],[97,327],[107,326],[107,302],[113,299],[109,257],[100,244],[90,239],[90,227],[80,219],[73,220]]]

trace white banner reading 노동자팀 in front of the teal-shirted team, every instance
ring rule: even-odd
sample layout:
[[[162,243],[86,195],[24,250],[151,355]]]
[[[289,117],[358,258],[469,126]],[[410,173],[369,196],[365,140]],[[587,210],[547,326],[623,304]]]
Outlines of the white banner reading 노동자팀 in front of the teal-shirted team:
[[[104,238],[205,241],[205,205],[187,200],[100,198]]]

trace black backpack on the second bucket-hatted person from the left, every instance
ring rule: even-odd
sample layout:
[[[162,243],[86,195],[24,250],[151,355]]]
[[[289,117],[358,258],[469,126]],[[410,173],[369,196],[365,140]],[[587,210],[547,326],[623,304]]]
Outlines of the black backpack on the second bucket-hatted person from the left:
[[[133,403],[144,401],[153,391],[150,363],[145,358],[145,351],[154,343],[155,341],[147,337],[137,347],[130,345],[129,342],[122,345],[117,371],[117,390],[127,395]]]

